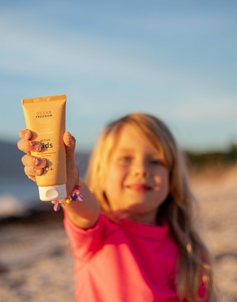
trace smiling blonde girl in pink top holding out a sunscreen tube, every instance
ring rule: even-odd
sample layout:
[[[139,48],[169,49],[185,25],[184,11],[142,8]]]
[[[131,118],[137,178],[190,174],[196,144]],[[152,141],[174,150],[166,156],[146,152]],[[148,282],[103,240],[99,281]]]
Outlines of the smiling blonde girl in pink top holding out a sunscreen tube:
[[[25,133],[18,146],[31,151]],[[66,132],[64,142],[70,195],[78,179],[75,139]],[[31,155],[22,162],[33,180],[46,165]],[[211,257],[193,227],[182,154],[160,120],[130,114],[109,124],[86,183],[79,180],[84,201],[63,206],[76,302],[217,301]]]

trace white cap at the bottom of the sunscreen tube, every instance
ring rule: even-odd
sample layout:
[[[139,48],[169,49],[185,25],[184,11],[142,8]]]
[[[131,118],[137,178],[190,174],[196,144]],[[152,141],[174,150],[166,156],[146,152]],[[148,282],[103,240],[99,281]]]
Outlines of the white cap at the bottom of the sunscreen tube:
[[[40,200],[52,201],[67,197],[66,184],[49,187],[39,187]]]

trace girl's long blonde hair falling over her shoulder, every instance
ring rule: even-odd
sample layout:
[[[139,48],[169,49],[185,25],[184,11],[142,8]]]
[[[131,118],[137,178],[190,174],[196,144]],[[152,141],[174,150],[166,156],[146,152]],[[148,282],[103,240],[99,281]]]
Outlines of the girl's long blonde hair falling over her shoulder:
[[[212,257],[195,231],[193,206],[195,199],[190,192],[186,166],[173,135],[166,125],[148,114],[129,114],[111,124],[103,131],[90,159],[87,184],[100,203],[102,211],[112,220],[113,214],[105,195],[105,183],[109,155],[118,131],[130,124],[146,137],[164,156],[165,165],[170,171],[170,192],[159,207],[157,217],[163,217],[170,225],[170,232],[179,247],[177,259],[176,290],[179,299],[189,302],[201,300],[198,295],[200,279],[203,279],[208,301],[217,301],[213,286]]]

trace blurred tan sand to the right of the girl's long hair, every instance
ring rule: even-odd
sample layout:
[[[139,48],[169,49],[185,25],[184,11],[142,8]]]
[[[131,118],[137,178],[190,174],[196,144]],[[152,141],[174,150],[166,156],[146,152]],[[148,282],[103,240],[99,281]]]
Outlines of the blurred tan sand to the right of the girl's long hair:
[[[223,302],[237,301],[237,166],[192,175],[200,207],[200,233],[216,259]]]

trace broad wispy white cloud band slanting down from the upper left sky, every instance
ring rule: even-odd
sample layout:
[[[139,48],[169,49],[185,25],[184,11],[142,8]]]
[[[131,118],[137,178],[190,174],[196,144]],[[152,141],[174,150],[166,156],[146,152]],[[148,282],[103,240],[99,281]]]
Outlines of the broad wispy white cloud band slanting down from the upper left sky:
[[[155,66],[142,55],[133,56],[126,48],[105,41],[92,41],[83,35],[48,34],[46,28],[31,29],[14,23],[6,17],[1,19],[2,71],[21,75],[56,78],[79,75],[114,77],[151,85],[186,82],[191,85],[188,74],[181,75],[175,69]],[[37,70],[37,73],[36,73]],[[198,79],[193,79],[196,82]]]

